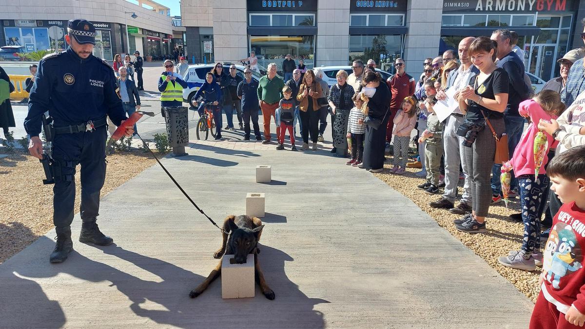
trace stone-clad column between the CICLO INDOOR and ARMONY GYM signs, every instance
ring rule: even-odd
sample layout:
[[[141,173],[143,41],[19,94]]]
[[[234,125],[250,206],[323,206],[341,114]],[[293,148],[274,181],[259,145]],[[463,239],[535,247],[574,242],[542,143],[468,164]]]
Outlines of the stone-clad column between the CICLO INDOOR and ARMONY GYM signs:
[[[439,56],[442,15],[442,1],[408,1],[406,12],[408,32],[404,41],[404,60],[407,73],[416,79],[422,73],[425,58]]]

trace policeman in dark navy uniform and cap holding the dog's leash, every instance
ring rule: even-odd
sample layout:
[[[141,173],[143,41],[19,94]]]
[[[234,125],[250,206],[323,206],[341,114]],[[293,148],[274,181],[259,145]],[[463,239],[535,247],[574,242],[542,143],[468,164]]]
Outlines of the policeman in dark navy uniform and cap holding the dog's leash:
[[[57,245],[49,260],[54,263],[65,261],[73,250],[70,225],[77,164],[81,165],[83,221],[79,241],[97,245],[113,242],[95,223],[106,172],[106,115],[118,126],[128,119],[116,95],[112,67],[91,54],[95,44],[94,25],[84,19],[70,20],[67,32],[67,51],[49,54],[39,63],[25,119],[29,152],[33,157],[42,158],[43,144],[39,139],[42,115],[49,110],[53,117],[53,223]],[[133,133],[132,128],[126,127],[127,136]]]

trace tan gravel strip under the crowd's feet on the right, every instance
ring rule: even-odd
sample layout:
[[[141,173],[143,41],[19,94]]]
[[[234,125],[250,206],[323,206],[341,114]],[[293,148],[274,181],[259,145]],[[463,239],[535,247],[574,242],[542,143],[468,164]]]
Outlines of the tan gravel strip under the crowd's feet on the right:
[[[455,224],[453,224],[454,219],[462,216],[449,213],[446,209],[435,209],[429,206],[429,202],[441,197],[443,190],[441,189],[440,194],[428,195],[421,189],[418,189],[417,185],[424,182],[424,179],[418,178],[414,174],[421,169],[407,169],[408,172],[404,175],[392,174],[390,172],[390,168],[392,168],[391,159],[392,157],[387,157],[387,162],[384,164],[384,171],[374,175],[396,191],[411,199],[412,202],[428,213],[439,226],[448,230],[449,233],[458,238],[464,245],[485,259],[487,264],[498,271],[504,278],[512,282],[532,302],[536,302],[536,297],[538,297],[538,293],[540,292],[538,276],[541,268],[536,268],[536,271],[528,272],[507,268],[498,262],[498,257],[508,255],[510,250],[519,250],[521,247],[524,226],[522,223],[508,219],[510,214],[520,212],[518,198],[512,199],[508,203],[509,209],[506,209],[504,202],[490,206],[489,215],[486,218],[486,234],[463,233],[457,231]],[[460,180],[459,183],[459,195],[461,195],[463,181]],[[477,280],[480,278],[472,279]]]

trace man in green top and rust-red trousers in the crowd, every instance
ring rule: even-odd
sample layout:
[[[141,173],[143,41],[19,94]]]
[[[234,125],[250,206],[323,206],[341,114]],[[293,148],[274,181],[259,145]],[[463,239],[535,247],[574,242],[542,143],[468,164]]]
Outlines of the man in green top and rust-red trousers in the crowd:
[[[276,75],[276,64],[268,64],[268,74],[260,78],[258,83],[258,99],[264,118],[264,140],[262,144],[270,143],[270,117],[276,114],[278,102],[283,98],[284,81]],[[274,118],[276,122],[276,117]],[[280,127],[276,127],[276,136],[280,133]]]

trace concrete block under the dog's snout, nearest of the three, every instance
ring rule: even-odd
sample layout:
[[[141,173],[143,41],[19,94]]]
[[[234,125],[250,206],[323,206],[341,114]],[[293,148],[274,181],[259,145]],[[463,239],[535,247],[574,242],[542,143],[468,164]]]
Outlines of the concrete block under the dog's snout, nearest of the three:
[[[221,297],[254,297],[254,255],[248,254],[245,264],[232,264],[233,255],[223,255],[221,264]]]

